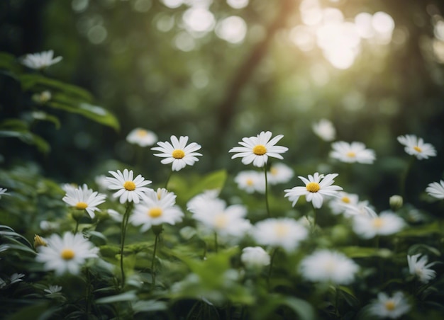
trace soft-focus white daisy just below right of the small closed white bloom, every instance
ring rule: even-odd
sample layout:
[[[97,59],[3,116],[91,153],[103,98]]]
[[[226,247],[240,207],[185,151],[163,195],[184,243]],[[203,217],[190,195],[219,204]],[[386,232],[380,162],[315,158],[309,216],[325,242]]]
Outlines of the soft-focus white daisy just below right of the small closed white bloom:
[[[372,164],[376,156],[372,149],[365,149],[365,144],[362,142],[348,142],[338,141],[331,144],[332,151],[330,156],[333,159],[338,159],[346,163],[357,162],[358,164]]]

